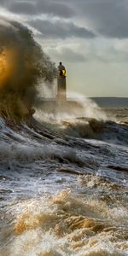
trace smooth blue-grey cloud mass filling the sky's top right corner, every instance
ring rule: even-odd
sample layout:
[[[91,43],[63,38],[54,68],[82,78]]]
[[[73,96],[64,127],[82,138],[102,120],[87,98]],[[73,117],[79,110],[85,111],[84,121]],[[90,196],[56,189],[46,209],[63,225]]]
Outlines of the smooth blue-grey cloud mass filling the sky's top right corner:
[[[79,5],[82,16],[96,32],[108,38],[128,37],[127,0],[79,0]]]

